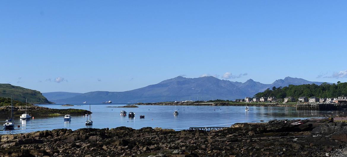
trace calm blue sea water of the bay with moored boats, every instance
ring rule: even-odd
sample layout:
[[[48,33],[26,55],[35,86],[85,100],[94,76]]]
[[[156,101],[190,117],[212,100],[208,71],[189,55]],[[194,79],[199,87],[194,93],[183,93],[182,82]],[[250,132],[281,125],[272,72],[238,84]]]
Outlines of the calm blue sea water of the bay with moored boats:
[[[76,106],[80,105],[80,106]],[[89,110],[89,105],[75,104],[75,106],[40,105],[50,108],[78,108]],[[331,113],[323,111],[297,111],[295,107],[256,107],[250,106],[249,111],[245,111],[245,106],[157,106],[143,105],[137,108],[115,108],[107,106],[124,106],[113,104],[93,104],[91,105],[93,125],[90,128],[116,128],[120,126],[139,129],[143,127],[161,127],[175,130],[189,129],[189,127],[229,127],[238,122],[260,122],[273,119],[304,119],[312,117],[325,117]],[[121,116],[120,111],[127,113],[134,112],[135,118]],[[177,110],[179,114],[175,116],[173,112]],[[140,119],[140,115],[145,115]],[[35,115],[34,115],[35,116]],[[15,119],[15,130],[3,130],[4,118],[0,118],[0,134],[34,132],[39,130],[52,130],[67,128],[76,130],[86,128],[86,117],[72,116],[70,122],[64,122],[64,116],[39,117],[35,119],[20,120]],[[17,125],[20,127],[17,128]]]

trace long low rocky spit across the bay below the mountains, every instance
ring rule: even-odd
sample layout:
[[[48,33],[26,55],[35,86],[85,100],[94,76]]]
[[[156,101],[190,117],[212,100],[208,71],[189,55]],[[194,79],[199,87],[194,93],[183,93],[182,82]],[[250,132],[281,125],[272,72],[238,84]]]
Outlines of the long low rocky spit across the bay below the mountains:
[[[157,102],[157,103],[136,103],[133,105],[174,105],[174,106],[276,106],[276,107],[296,107],[293,104],[281,104],[281,103],[266,103],[266,104],[254,104],[254,103],[228,103],[228,102]]]

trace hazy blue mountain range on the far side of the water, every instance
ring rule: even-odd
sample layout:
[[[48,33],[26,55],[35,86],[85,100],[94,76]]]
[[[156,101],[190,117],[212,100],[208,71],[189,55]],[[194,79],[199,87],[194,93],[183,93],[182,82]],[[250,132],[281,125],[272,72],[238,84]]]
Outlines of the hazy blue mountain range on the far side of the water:
[[[149,85],[129,91],[92,91],[88,93],[50,92],[43,96],[55,103],[101,103],[111,100],[113,103],[162,102],[183,100],[211,100],[252,97],[267,88],[285,87],[288,85],[317,84],[301,78],[286,77],[278,79],[272,84],[262,84],[252,79],[246,82],[220,80],[212,76],[199,78],[175,77],[158,84]]]

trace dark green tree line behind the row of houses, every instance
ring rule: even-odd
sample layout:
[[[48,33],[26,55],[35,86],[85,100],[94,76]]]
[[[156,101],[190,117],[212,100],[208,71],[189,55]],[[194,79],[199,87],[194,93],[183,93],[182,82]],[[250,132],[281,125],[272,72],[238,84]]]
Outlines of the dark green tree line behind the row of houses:
[[[335,98],[338,96],[347,96],[347,82],[337,84],[323,83],[321,85],[307,84],[307,85],[289,85],[288,87],[272,87],[264,92],[254,95],[254,97],[294,97],[298,99],[301,96],[306,97],[319,97],[319,98]]]

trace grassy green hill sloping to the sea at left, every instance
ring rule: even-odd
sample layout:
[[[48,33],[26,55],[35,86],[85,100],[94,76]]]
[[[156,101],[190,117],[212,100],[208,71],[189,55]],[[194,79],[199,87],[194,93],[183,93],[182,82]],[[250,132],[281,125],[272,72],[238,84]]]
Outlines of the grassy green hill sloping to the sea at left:
[[[11,84],[0,84],[0,97],[11,98],[25,103],[25,99],[28,99],[30,104],[51,104],[40,91],[27,89],[19,86],[13,86]]]

